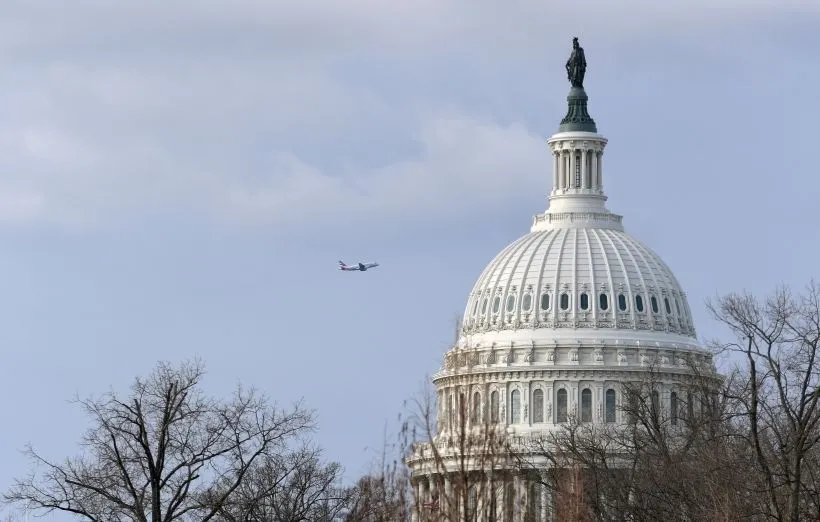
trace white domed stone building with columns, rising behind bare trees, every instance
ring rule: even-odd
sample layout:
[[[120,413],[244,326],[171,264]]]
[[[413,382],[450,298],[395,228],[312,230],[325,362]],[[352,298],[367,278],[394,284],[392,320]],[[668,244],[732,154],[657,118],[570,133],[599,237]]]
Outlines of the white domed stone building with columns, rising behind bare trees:
[[[569,62],[567,69],[571,74]],[[460,337],[434,375],[437,456],[426,446],[408,460],[420,500],[416,520],[434,519],[428,511],[451,490],[448,466],[456,466],[459,429],[489,424],[508,437],[538,437],[573,416],[624,423],[622,385],[650,371],[660,381],[653,398],[676,419],[679,383],[693,367],[714,371],[674,274],[606,206],[607,140],[587,112],[582,81],[583,70],[567,97],[567,115],[547,140],[548,209],[478,277]],[[473,466],[488,465],[471,458]],[[524,520],[527,510],[528,520],[549,520],[546,491],[506,471],[495,469],[498,484],[483,490],[492,498],[476,500],[494,511],[478,520]]]

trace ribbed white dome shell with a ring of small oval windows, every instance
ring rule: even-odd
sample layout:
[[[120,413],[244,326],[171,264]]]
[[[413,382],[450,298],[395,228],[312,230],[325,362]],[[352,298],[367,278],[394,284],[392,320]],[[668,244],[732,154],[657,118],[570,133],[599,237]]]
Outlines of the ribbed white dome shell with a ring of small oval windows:
[[[623,330],[697,342],[686,294],[657,254],[622,230],[572,227],[502,250],[470,293],[462,331],[496,343],[634,337]]]

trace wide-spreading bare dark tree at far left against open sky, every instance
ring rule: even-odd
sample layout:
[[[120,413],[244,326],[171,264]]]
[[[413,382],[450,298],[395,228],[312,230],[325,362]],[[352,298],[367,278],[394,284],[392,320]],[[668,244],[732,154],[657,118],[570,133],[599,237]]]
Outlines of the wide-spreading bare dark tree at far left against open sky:
[[[29,447],[35,470],[3,500],[100,522],[213,519],[260,459],[275,458],[313,421],[301,406],[277,408],[252,389],[206,397],[203,374],[199,361],[160,363],[127,397],[78,400],[91,421],[83,453],[58,462]]]

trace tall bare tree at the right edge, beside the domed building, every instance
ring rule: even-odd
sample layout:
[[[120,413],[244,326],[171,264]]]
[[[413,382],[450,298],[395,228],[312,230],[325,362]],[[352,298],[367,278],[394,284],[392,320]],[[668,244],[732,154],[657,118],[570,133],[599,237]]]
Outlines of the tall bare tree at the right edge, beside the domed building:
[[[739,359],[730,392],[752,448],[750,498],[770,519],[820,518],[820,286],[798,296],[781,287],[763,301],[729,294],[708,308],[735,335],[712,344]]]

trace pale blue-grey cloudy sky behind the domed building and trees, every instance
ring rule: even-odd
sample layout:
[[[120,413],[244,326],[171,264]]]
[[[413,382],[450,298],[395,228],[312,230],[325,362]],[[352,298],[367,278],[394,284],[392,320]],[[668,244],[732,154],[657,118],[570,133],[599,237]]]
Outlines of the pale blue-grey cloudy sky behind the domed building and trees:
[[[5,0],[0,487],[77,451],[75,393],[192,356],[367,471],[546,208],[573,36],[608,206],[702,338],[820,276],[817,0]]]

